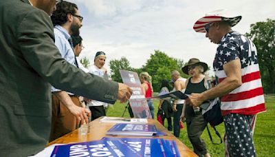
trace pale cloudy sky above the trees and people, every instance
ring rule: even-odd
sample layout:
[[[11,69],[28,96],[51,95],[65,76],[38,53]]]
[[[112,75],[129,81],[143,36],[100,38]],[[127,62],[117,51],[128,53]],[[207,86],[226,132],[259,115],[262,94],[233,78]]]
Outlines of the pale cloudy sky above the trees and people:
[[[187,62],[198,58],[212,67],[217,45],[192,29],[207,12],[226,9],[243,16],[232,29],[241,33],[250,24],[275,19],[274,0],[188,1],[188,0],[72,0],[84,17],[80,35],[86,56],[94,63],[97,51],[111,59],[125,56],[131,67],[141,67],[154,50]],[[210,70],[210,75],[213,74]]]

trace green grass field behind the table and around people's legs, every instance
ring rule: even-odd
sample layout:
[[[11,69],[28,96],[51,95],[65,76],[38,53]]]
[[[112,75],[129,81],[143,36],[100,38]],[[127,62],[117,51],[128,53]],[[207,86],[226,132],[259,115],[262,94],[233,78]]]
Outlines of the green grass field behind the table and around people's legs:
[[[158,101],[154,101],[154,105],[156,116]],[[108,109],[107,116],[122,116],[125,106],[126,104],[120,104],[118,102],[115,103],[113,109]],[[257,156],[275,156],[275,96],[265,96],[265,107],[267,112],[259,114],[256,119],[256,128],[254,130],[254,144],[256,147],[256,154]],[[124,117],[130,117],[127,109]],[[166,121],[165,126],[167,127]],[[223,124],[219,125],[217,129],[221,136],[223,136],[225,132]],[[210,131],[214,140],[218,142],[219,139],[217,138],[216,134],[214,134],[214,129],[210,128]],[[211,156],[224,156],[223,144],[213,145],[208,137],[207,129],[204,130],[202,138],[206,141],[206,145]],[[192,149],[192,145],[187,136],[185,124],[184,128],[181,129],[179,139],[187,147]]]

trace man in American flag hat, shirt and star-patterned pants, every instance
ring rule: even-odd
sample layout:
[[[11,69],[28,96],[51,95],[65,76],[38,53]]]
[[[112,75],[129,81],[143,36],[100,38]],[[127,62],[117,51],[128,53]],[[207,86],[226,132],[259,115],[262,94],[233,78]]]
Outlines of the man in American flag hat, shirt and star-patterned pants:
[[[240,20],[241,16],[231,17],[224,10],[216,10],[195,23],[196,32],[206,32],[206,37],[218,44],[213,67],[219,84],[201,94],[191,94],[186,103],[199,106],[220,96],[225,155],[256,156],[253,129],[256,114],[265,111],[265,100],[256,47],[246,36],[231,29]]]

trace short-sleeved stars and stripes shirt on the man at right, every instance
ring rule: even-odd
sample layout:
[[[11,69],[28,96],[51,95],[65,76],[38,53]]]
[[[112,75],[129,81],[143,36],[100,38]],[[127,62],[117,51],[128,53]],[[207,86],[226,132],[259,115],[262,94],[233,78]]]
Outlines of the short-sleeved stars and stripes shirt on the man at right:
[[[236,114],[257,114],[265,111],[265,99],[254,43],[239,32],[229,32],[217,48],[213,62],[214,72],[219,83],[227,76],[223,65],[240,59],[242,85],[221,98],[221,112],[223,116]]]

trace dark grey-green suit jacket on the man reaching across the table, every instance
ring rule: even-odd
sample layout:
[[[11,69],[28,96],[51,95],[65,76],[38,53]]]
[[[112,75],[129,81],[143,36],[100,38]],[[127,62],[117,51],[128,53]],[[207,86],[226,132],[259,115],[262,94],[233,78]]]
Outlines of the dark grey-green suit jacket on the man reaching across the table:
[[[0,1],[0,12],[0,156],[29,156],[50,136],[50,83],[106,103],[115,103],[118,83],[62,59],[50,17],[28,0]]]

